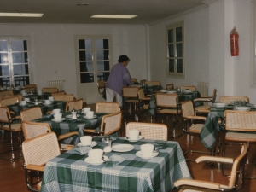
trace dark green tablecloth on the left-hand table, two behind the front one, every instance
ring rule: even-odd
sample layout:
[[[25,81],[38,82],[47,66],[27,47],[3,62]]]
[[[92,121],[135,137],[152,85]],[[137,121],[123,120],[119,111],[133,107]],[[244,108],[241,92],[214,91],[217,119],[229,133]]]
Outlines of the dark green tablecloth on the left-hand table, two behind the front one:
[[[42,109],[42,113],[45,114],[46,112],[52,111],[55,108],[60,108],[61,111],[64,111],[66,108],[66,103],[67,102],[55,101],[52,102],[50,105],[44,105],[44,103],[35,105],[33,102],[28,102],[26,106],[21,106],[20,103],[15,103],[14,105],[7,106],[7,108],[9,108],[10,111],[15,112],[15,115],[20,115],[20,111],[38,106]]]

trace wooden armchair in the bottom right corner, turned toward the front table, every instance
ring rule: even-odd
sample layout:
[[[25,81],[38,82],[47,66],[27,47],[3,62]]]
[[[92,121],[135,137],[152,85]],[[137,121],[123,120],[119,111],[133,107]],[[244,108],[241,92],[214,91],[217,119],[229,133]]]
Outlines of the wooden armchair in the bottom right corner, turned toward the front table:
[[[234,160],[233,158],[224,157],[212,157],[212,156],[201,156],[195,161],[197,163],[205,162],[216,162],[225,163],[232,165],[230,181],[227,185],[223,183],[213,183],[195,179],[180,179],[174,183],[177,187],[178,192],[185,191],[201,191],[201,192],[217,192],[217,191],[240,191],[243,186],[243,172],[244,165],[247,156],[247,144],[243,144],[241,148],[241,154]],[[211,174],[209,172],[209,174]]]

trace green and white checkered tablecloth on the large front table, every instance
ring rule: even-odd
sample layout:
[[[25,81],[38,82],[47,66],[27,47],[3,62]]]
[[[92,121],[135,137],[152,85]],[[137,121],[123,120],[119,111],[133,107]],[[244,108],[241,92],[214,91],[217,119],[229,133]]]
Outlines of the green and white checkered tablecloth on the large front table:
[[[125,143],[134,145],[129,152],[110,152],[125,158],[117,166],[107,167],[106,163],[93,166],[84,159],[87,154],[75,154],[74,149],[49,160],[44,168],[41,191],[171,191],[173,183],[180,178],[191,178],[182,149],[177,142],[140,140],[129,143],[121,137],[115,137],[113,145]],[[102,137],[93,139],[103,148]],[[145,143],[166,143],[159,149],[158,156],[145,160],[137,157],[140,146]]]

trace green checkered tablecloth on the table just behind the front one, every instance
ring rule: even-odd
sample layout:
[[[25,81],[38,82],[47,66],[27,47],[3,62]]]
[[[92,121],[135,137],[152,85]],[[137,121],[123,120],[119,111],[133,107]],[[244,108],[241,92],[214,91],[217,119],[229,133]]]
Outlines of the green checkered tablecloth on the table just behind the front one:
[[[61,143],[71,143],[73,141],[75,144],[77,144],[79,143],[79,138],[84,136],[84,129],[90,128],[98,129],[97,131],[100,131],[99,129],[101,127],[102,117],[108,113],[95,113],[96,118],[90,120],[84,119],[84,114],[79,114],[80,116],[78,117],[78,119],[66,118],[66,116],[70,114],[70,112],[64,112],[62,114],[62,117],[65,118],[65,120],[63,120],[62,122],[52,121],[52,119],[54,119],[54,116],[52,114],[44,115],[42,118],[35,119],[33,121],[39,123],[48,123],[51,127],[51,130],[54,131],[57,136],[68,132],[79,131],[79,137],[69,137],[61,141]]]

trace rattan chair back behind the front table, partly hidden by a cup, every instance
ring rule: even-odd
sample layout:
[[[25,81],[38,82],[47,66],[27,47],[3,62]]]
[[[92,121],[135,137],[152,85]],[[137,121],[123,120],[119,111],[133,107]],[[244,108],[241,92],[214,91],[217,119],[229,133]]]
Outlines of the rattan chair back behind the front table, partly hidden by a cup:
[[[129,130],[138,130],[144,139],[167,141],[167,126],[164,124],[129,122],[125,132],[128,136]]]

